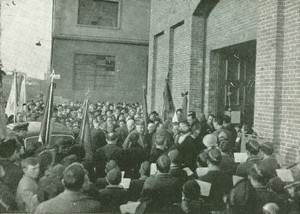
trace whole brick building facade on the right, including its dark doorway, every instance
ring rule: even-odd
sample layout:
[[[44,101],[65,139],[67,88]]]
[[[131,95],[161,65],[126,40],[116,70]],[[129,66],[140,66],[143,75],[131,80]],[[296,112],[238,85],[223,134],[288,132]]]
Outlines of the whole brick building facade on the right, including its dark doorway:
[[[148,103],[161,111],[169,74],[175,106],[254,126],[299,161],[300,1],[151,1]]]

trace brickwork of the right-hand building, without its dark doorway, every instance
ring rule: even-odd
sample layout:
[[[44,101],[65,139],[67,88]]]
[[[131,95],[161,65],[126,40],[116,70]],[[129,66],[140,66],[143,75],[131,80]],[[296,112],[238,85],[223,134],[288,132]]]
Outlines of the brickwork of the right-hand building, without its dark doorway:
[[[206,25],[203,17],[193,16],[199,2],[202,3],[193,0],[152,1],[148,83],[152,81],[153,68],[159,66],[153,57],[154,50],[159,49],[154,48],[154,36],[164,32],[166,41],[162,49],[169,58],[165,56],[166,60],[162,62],[165,66],[162,75],[166,76],[169,68],[176,103],[180,99],[174,95],[176,78],[181,77],[182,83],[178,81],[178,84],[182,87],[188,86],[185,83],[190,84],[189,99],[192,101],[189,108],[197,111],[204,105],[204,113],[215,113],[218,50],[256,40],[254,129],[265,140],[274,143],[276,152],[282,154],[287,163],[299,161],[300,1],[220,0],[209,14]],[[182,21],[185,35],[172,28]],[[176,40],[176,36],[181,40]],[[176,51],[176,45],[182,52]],[[181,64],[175,69],[180,60]],[[160,74],[155,75],[157,79]],[[151,86],[148,87],[148,100],[156,102],[162,90],[156,89],[153,94]]]

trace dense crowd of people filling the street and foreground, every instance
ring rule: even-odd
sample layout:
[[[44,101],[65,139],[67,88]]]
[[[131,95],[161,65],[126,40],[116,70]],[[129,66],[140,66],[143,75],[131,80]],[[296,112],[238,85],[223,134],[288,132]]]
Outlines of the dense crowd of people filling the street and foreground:
[[[29,101],[16,121],[41,121],[44,106]],[[0,212],[120,213],[134,204],[132,213],[299,213],[299,183],[277,176],[271,142],[249,140],[246,162],[235,161],[243,134],[253,130],[227,115],[177,109],[163,121],[154,111],[146,127],[139,103],[90,104],[87,159],[78,143],[83,113],[82,103],[55,105],[53,122],[75,140],[30,155],[22,136],[1,139]]]

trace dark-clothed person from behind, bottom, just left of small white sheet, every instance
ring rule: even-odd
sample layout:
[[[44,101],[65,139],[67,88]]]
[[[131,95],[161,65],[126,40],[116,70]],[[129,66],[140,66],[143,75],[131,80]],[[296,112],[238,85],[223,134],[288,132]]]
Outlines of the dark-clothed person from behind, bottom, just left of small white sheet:
[[[127,191],[120,186],[122,175],[118,168],[110,170],[106,179],[109,183],[105,189],[99,191],[99,198],[103,213],[120,213],[120,205],[128,202]]]

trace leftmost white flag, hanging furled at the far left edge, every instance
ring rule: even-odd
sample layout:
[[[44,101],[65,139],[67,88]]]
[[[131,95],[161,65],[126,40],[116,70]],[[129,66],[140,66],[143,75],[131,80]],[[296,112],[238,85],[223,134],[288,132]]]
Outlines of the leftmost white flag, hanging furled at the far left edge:
[[[14,72],[14,78],[13,78],[13,81],[11,84],[9,97],[8,97],[7,105],[5,108],[5,113],[7,114],[7,117],[14,115],[14,118],[15,118],[16,111],[17,111],[17,99],[18,99],[17,96],[18,96],[18,94],[17,94],[17,73]]]

